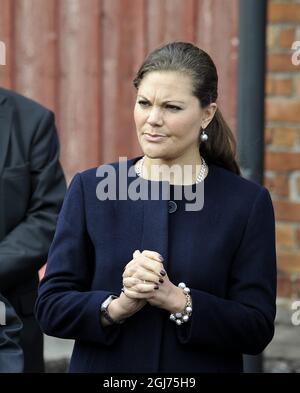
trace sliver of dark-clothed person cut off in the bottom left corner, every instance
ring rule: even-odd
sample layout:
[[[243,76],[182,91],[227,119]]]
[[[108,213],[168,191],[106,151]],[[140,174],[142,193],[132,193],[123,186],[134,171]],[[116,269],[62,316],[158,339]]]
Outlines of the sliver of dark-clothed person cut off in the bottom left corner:
[[[19,345],[22,322],[0,294],[0,373],[21,373],[23,351]]]

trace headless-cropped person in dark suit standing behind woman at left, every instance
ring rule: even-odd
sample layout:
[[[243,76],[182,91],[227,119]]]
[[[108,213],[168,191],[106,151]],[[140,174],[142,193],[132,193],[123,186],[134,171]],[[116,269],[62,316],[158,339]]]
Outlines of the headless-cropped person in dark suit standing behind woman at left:
[[[53,113],[0,88],[0,291],[23,322],[25,372],[44,371],[33,310],[65,188]]]

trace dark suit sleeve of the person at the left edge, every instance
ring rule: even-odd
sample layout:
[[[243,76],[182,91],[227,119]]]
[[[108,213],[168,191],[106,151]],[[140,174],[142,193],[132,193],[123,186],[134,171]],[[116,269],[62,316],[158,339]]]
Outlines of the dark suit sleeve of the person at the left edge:
[[[0,242],[0,288],[30,279],[47,259],[66,190],[54,116],[44,111],[31,144],[31,197],[24,219]],[[12,201],[13,203],[13,201]]]

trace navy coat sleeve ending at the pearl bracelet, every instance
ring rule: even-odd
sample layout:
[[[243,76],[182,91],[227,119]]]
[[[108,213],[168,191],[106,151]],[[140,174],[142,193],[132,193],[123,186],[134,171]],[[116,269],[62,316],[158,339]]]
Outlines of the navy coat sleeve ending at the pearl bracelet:
[[[226,299],[191,289],[193,313],[177,329],[182,344],[255,355],[274,334],[276,251],[273,206],[262,188],[232,262]]]

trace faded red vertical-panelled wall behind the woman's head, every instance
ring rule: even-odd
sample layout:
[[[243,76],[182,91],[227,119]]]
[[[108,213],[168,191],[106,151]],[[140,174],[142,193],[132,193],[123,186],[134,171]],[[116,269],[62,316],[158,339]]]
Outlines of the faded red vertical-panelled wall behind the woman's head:
[[[70,180],[141,154],[132,79],[145,54],[167,41],[210,53],[218,103],[235,130],[237,31],[238,0],[0,0],[0,85],[55,112]]]

